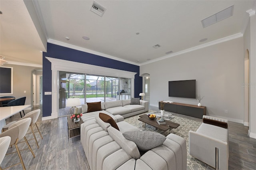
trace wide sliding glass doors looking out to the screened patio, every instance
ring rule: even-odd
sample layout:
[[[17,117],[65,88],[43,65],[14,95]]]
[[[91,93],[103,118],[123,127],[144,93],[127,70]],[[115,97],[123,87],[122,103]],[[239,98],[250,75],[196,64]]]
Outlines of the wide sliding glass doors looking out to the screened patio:
[[[59,117],[70,115],[68,98],[78,97],[81,104],[130,99],[131,79],[85,75],[59,71]]]

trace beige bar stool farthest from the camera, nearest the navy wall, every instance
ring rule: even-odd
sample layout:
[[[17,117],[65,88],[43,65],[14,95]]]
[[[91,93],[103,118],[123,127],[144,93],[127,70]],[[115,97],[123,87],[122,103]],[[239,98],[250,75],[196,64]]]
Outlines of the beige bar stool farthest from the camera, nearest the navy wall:
[[[43,136],[42,136],[42,134],[41,134],[41,132],[40,132],[40,130],[39,130],[37,124],[36,124],[36,121],[37,121],[37,119],[38,119],[38,117],[39,117],[39,115],[40,115],[40,111],[41,111],[40,109],[31,111],[31,112],[27,113],[23,118],[20,119],[20,120],[22,120],[22,119],[26,119],[26,118],[28,118],[28,117],[31,118],[31,123],[30,123],[29,126],[30,126],[30,128],[31,128],[31,130],[32,130],[31,133],[33,133],[33,136],[34,136],[34,139],[35,139],[35,141],[36,141],[36,145],[37,145],[38,148],[39,148],[39,145],[38,145],[38,142],[37,142],[37,140],[36,140],[36,135],[35,135],[35,132],[34,132],[34,130],[33,130],[32,125],[33,125],[33,124],[36,125],[36,128],[37,128],[37,130],[38,130],[38,131],[36,131],[36,132],[39,132],[41,138],[43,139]],[[20,121],[20,120],[19,120],[19,121]],[[10,122],[10,123],[8,123],[7,125],[5,125],[5,126],[2,128],[2,132],[8,130],[8,129],[10,128],[10,126],[11,126],[12,124],[16,123],[16,122],[17,122],[17,121],[13,121],[13,122]],[[27,134],[31,134],[31,133],[27,133]]]

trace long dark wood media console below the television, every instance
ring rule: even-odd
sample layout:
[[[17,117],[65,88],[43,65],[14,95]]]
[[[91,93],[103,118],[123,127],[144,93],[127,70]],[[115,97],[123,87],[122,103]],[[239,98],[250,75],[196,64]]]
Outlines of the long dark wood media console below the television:
[[[160,102],[159,102],[159,109],[160,109]],[[203,115],[206,115],[206,107],[201,106],[198,107],[197,105],[190,105],[190,104],[184,104],[184,103],[166,103],[164,105],[164,110],[178,113],[182,115],[187,115],[191,117],[197,117],[202,119]]]

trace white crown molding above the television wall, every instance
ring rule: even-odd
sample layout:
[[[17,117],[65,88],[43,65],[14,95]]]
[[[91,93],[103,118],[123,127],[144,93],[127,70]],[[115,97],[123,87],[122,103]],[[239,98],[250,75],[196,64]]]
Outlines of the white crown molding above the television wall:
[[[172,53],[170,55],[166,55],[164,57],[160,57],[158,59],[154,59],[154,60],[151,60],[151,61],[147,61],[145,63],[141,63],[141,65],[145,65],[145,64],[148,64],[148,63],[154,63],[156,61],[160,61],[160,60],[163,60],[163,59],[167,59],[167,58],[170,58],[170,57],[174,57],[176,55],[181,55],[181,54],[184,54],[184,53],[188,53],[188,52],[191,52],[191,51],[195,51],[197,49],[201,49],[201,48],[205,48],[205,47],[209,47],[211,45],[215,45],[215,44],[218,44],[218,43],[222,43],[222,42],[227,42],[227,41],[230,41],[230,40],[234,40],[236,38],[240,38],[242,37],[243,34],[242,33],[238,33],[238,34],[234,34],[232,36],[227,36],[227,37],[224,37],[224,38],[220,38],[218,40],[214,40],[212,42],[208,42],[208,43],[204,43],[202,45],[197,45],[195,47],[191,47],[191,48],[188,48],[188,49],[185,49],[185,50],[182,50],[182,51],[178,51],[176,53]]]

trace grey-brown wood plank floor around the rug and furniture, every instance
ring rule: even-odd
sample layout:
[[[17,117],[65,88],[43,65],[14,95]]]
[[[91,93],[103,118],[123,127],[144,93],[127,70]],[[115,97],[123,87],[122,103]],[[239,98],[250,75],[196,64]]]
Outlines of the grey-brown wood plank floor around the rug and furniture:
[[[33,158],[29,150],[21,151],[26,169],[83,169],[89,170],[88,162],[84,150],[80,143],[80,137],[71,138],[68,143],[67,118],[61,117],[46,121],[42,120],[42,106],[34,107],[41,109],[38,118],[38,127],[43,135],[43,139],[37,133],[36,138],[40,148],[36,147],[34,140],[29,140],[30,146],[34,151],[36,158]],[[157,108],[150,108],[157,109]],[[25,111],[28,113],[29,111]],[[178,116],[183,117],[184,115]],[[202,119],[187,117],[202,122]],[[6,123],[20,119],[20,114],[7,119]],[[229,169],[230,170],[256,170],[256,139],[248,137],[248,127],[240,123],[228,122],[229,129]],[[33,136],[26,135],[28,139]],[[19,148],[26,148],[25,142],[18,144]],[[15,147],[9,148],[8,152],[15,151]],[[1,164],[2,168],[18,162],[18,154],[6,156]],[[21,165],[9,169],[22,169]]]

